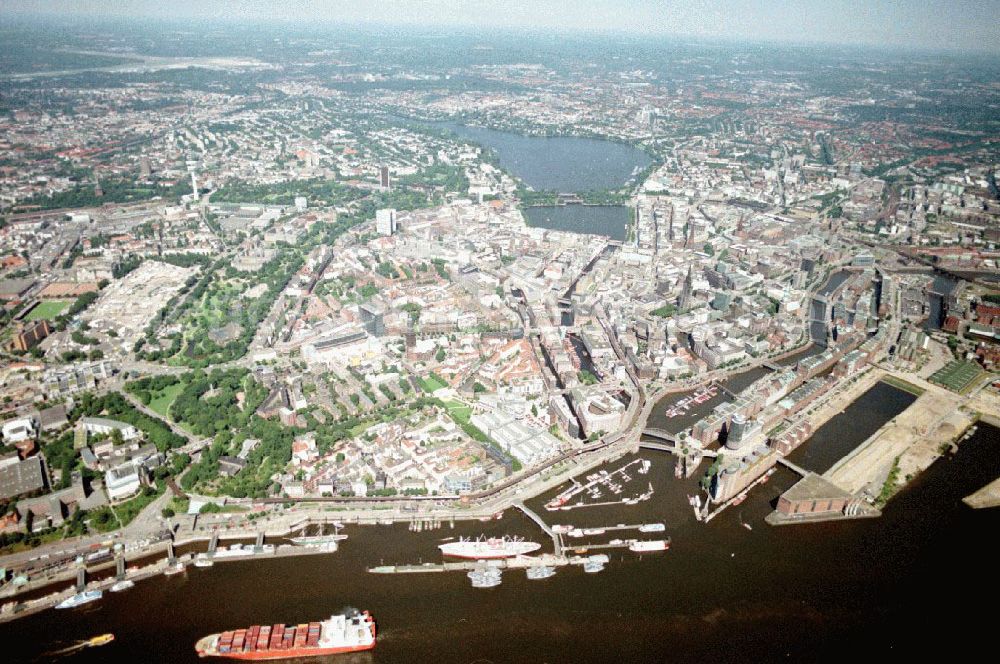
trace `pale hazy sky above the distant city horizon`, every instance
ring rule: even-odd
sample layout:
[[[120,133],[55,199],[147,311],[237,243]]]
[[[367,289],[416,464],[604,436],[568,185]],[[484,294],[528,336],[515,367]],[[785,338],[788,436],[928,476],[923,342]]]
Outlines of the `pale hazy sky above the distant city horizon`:
[[[530,26],[1000,52],[1000,0],[0,0],[4,12]]]

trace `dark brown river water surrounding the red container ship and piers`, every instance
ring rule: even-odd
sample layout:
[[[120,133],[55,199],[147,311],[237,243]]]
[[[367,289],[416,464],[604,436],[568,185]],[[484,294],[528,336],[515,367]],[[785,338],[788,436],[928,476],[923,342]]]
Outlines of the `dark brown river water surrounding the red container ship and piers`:
[[[827,426],[854,444],[866,435],[847,419]],[[985,535],[1000,526],[1000,510],[973,511],[960,499],[1000,475],[998,448],[1000,430],[981,426],[954,458],[937,462],[894,498],[880,519],[777,528],[762,518],[796,481],[790,471],[779,469],[739,508],[704,525],[686,503],[697,478],[677,480],[672,457],[643,452],[652,470],[635,475],[630,488],[651,481],[655,494],[645,503],[552,513],[542,509],[544,497],[529,501],[550,523],[667,524],[669,552],[613,553],[599,574],[561,568],[551,579],[528,581],[510,571],[498,588],[477,590],[461,573],[365,571],[439,560],[437,544],[458,535],[518,534],[548,550],[537,527],[513,510],[498,521],[422,533],[401,524],[348,527],[350,539],[334,554],[218,563],[157,577],[87,607],[0,625],[0,638],[15,661],[48,660],[45,653],[60,644],[107,631],[115,633],[114,643],[73,660],[196,661],[193,643],[206,633],[315,620],[354,606],[378,619],[378,646],[328,661],[895,659],[915,646],[915,635],[942,625],[950,647],[959,649],[985,636],[976,631],[969,591],[995,578]]]

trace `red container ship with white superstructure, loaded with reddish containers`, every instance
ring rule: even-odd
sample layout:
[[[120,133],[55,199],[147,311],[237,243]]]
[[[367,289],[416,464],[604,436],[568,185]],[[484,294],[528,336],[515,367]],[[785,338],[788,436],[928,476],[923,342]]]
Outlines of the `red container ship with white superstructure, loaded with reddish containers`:
[[[247,660],[321,657],[374,647],[375,619],[367,611],[301,625],[251,625],[209,634],[194,646],[199,657]]]

